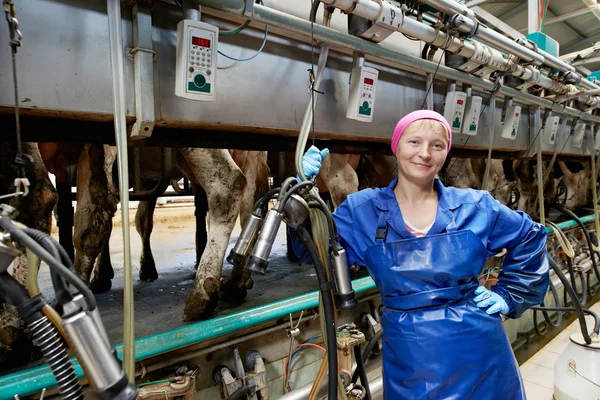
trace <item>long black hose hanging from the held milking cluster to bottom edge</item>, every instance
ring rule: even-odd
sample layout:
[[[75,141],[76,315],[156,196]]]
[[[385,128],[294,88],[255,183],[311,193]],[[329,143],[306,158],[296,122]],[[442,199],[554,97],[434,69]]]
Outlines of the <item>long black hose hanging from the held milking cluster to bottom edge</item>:
[[[312,238],[308,234],[308,231],[304,227],[299,226],[296,228],[296,234],[298,238],[304,243],[304,246],[308,250],[310,257],[313,260],[315,267],[315,273],[319,280],[319,290],[321,291],[321,298],[323,299],[323,310],[325,314],[325,330],[327,332],[327,361],[329,363],[329,376],[328,376],[328,387],[327,387],[327,399],[337,399],[337,340],[335,331],[335,316],[333,314],[333,300],[331,298],[331,282],[327,280],[325,275],[325,269],[317,253],[317,248],[312,241]]]

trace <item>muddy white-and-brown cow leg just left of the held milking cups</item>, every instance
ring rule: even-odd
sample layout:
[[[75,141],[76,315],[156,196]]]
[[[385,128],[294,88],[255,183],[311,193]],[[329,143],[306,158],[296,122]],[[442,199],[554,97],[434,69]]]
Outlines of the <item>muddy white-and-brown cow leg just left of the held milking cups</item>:
[[[184,321],[210,317],[219,301],[225,250],[240,210],[246,178],[227,150],[185,148],[182,169],[208,196],[209,232],[194,288],[185,302]]]

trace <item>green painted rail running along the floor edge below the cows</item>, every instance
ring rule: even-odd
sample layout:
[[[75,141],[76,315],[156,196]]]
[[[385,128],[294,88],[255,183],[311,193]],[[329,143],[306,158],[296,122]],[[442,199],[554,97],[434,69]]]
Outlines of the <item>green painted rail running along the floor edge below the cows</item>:
[[[594,215],[581,218],[583,223],[589,223],[593,220]],[[574,220],[558,224],[558,227],[561,229],[569,229],[575,226],[577,226],[577,222]],[[546,228],[546,230],[548,233],[551,233],[550,228]],[[375,283],[369,277],[361,278],[353,281],[352,287],[356,293],[361,293],[366,290],[375,289]],[[208,321],[186,325],[157,335],[144,337],[135,341],[135,360],[143,360],[204,340],[260,325],[285,317],[290,313],[317,307],[318,305],[319,294],[317,291],[314,291]],[[121,358],[123,346],[117,345],[115,347],[119,358]],[[72,358],[71,362],[75,367],[77,376],[82,378],[83,371],[77,360]],[[30,395],[40,392],[43,388],[51,388],[55,385],[54,375],[47,365],[0,376],[0,400],[13,399],[15,394],[19,396]]]

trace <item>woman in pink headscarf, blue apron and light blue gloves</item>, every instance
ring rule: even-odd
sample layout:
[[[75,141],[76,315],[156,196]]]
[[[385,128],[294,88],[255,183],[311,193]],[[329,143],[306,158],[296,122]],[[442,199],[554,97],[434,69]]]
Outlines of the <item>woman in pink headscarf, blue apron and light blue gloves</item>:
[[[386,399],[524,399],[500,314],[518,318],[543,300],[546,230],[486,191],[442,185],[451,132],[433,111],[398,122],[398,178],[338,207],[341,244],[349,265],[367,267],[385,306]],[[305,175],[323,155],[307,152]],[[479,286],[486,260],[504,248],[498,283]]]

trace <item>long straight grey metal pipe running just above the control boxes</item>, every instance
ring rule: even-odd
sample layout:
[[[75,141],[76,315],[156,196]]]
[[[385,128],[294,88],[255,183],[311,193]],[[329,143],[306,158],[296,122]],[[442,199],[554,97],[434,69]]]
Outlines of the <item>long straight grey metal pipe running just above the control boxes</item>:
[[[214,8],[216,10],[221,11],[230,11],[237,10],[236,13],[238,15],[244,15],[244,2],[243,0],[193,0],[197,4],[202,4],[206,7]],[[292,15],[283,13],[281,11],[275,10],[270,7],[265,7],[260,4],[254,4],[253,13],[248,16],[249,18],[260,21],[263,23],[268,23],[273,26],[277,26],[283,29],[286,29],[290,32],[298,33],[300,35],[306,36],[310,38],[311,36],[311,24],[309,21],[294,17]],[[409,21],[414,21],[410,18],[404,19],[404,26],[410,24]],[[419,24],[419,22],[414,21],[415,24]],[[425,25],[420,24],[425,27]],[[427,28],[427,27],[425,27]],[[434,30],[435,31],[435,30]],[[442,32],[439,32],[440,37],[443,35]],[[436,63],[429,62],[427,60],[422,60],[420,57],[414,57],[408,54],[399,53],[394,50],[386,49],[381,45],[376,43],[369,42],[362,38],[354,37],[345,33],[341,33],[331,28],[324,27],[319,24],[314,25],[314,38],[318,41],[323,41],[331,44],[335,44],[338,46],[345,47],[352,51],[358,51],[365,54],[370,54],[372,56],[378,57],[381,60],[390,61],[393,63],[402,64],[408,68],[419,69],[423,72],[435,72]],[[450,45],[452,47],[452,45]],[[463,55],[465,49],[474,49],[472,45],[469,46],[469,43],[464,43],[463,50],[460,50],[458,54]],[[473,53],[474,54],[474,53]],[[466,83],[472,86],[477,86],[483,90],[492,91],[495,88],[494,83],[466,74],[461,71],[457,71],[455,69],[440,65],[437,71],[437,76],[446,78],[446,79],[454,79],[456,81]],[[582,81],[583,82],[583,81]],[[554,88],[555,89],[555,88]],[[558,114],[562,115],[570,115],[573,117],[581,116],[581,120],[585,121],[595,121],[600,122],[600,117],[591,115],[589,113],[583,113],[579,110],[565,107],[563,109],[562,105],[556,104],[550,100],[545,100],[539,98],[537,96],[533,96],[520,90],[512,89],[509,87],[502,87],[500,92],[513,97],[515,99],[520,100],[523,104],[535,104],[545,109],[552,108]]]

